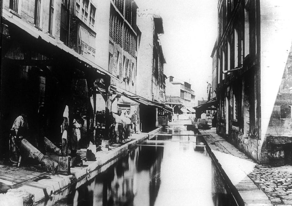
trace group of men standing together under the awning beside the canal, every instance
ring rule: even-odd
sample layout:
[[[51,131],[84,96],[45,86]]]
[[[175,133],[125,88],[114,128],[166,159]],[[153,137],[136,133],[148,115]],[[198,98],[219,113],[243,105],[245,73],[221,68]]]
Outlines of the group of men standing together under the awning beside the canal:
[[[122,110],[118,110],[117,113],[111,112],[111,116],[114,120],[112,120],[110,127],[110,141],[116,142],[116,137],[118,137],[119,142],[122,142],[123,139],[127,139],[130,136],[131,129],[134,133],[137,133],[137,124],[139,123],[137,111],[130,115],[130,110],[126,110],[123,114]]]

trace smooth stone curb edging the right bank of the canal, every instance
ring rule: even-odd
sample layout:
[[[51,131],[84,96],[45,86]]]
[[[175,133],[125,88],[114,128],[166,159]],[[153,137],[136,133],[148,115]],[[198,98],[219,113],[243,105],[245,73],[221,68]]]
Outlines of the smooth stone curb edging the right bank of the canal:
[[[205,135],[211,135],[210,133],[207,133],[204,130],[199,130],[201,134]],[[203,136],[202,136],[203,137]],[[269,201],[269,198],[267,195],[260,190],[255,183],[246,175],[246,177],[240,181],[239,183],[232,182],[228,178],[228,174],[225,173],[224,168],[222,167],[222,162],[220,163],[220,159],[217,158],[216,154],[213,153],[212,149],[209,147],[207,141],[202,138],[204,141],[204,144],[206,144],[208,152],[210,155],[214,158],[214,163],[217,165],[219,170],[222,170],[221,172],[223,175],[226,175],[227,184],[233,190],[235,193],[236,199],[239,199],[239,205],[245,205],[245,206],[273,206],[273,204]],[[236,149],[236,147],[234,147]],[[219,160],[218,160],[219,159]],[[229,170],[228,170],[229,171]],[[234,171],[236,172],[236,171]],[[244,172],[244,171],[242,171]],[[238,196],[239,195],[239,196]]]

